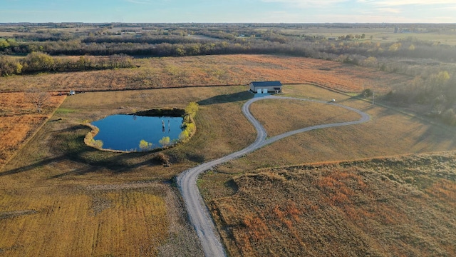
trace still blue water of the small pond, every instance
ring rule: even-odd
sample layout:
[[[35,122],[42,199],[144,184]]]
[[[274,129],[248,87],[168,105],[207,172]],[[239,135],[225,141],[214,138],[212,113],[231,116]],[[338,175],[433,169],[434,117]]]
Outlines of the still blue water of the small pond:
[[[140,141],[152,143],[152,148],[160,148],[160,139],[178,139],[182,132],[182,117],[150,117],[117,114],[93,121],[100,131],[93,138],[103,141],[103,148],[120,151],[141,151]]]

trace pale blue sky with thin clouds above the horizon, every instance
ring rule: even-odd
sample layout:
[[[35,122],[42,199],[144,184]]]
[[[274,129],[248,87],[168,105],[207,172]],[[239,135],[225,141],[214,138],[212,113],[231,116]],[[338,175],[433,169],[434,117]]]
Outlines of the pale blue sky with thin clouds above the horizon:
[[[0,23],[456,23],[456,0],[0,0]]]

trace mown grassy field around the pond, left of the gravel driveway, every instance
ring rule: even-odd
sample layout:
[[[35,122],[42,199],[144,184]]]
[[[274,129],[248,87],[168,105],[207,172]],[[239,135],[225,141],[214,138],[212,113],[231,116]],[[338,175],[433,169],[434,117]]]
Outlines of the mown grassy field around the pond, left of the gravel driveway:
[[[242,103],[252,97],[246,89],[68,96],[0,172],[0,228],[7,235],[0,238],[0,253],[202,256],[177,190],[168,181],[254,140],[254,129],[241,111]],[[156,153],[111,153],[83,143],[89,131],[83,121],[155,107],[183,108],[190,101],[199,102],[198,131],[189,143],[164,151],[171,157],[170,167],[154,161]]]

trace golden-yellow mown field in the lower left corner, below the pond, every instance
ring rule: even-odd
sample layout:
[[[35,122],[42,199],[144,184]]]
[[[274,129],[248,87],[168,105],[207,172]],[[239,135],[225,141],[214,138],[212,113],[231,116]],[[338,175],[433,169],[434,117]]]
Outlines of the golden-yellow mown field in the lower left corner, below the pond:
[[[169,186],[52,186],[2,190],[0,253],[7,256],[172,256],[170,236],[188,238]],[[179,213],[171,215],[168,212]],[[174,228],[171,228],[171,224]],[[175,231],[177,228],[180,232]],[[175,247],[178,254],[191,243]]]

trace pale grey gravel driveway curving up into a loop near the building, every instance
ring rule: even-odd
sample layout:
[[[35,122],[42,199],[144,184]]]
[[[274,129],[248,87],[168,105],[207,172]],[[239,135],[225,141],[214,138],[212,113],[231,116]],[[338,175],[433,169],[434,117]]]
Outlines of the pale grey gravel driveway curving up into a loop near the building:
[[[274,136],[271,138],[266,139],[266,131],[264,130],[263,126],[254,118],[254,116],[249,111],[249,106],[254,103],[255,101],[263,100],[263,99],[293,99],[293,100],[302,100],[302,101],[313,101],[316,103],[321,104],[331,104],[334,106],[339,106],[350,111],[354,111],[361,115],[361,119],[358,121],[348,121],[348,122],[341,122],[336,124],[323,124],[317,126],[310,126],[304,129],[298,129],[296,131],[289,131],[287,133],[280,134],[278,136]],[[311,131],[314,129],[324,129],[336,126],[348,126],[353,124],[361,124],[366,121],[369,121],[370,117],[368,114],[365,114],[363,111],[359,111],[358,109],[353,109],[348,106],[343,106],[341,104],[335,103],[328,103],[325,101],[316,101],[316,100],[309,100],[309,99],[296,99],[292,97],[284,97],[284,96],[263,96],[263,97],[256,97],[247,101],[247,103],[242,106],[242,111],[244,115],[249,119],[250,122],[254,125],[255,129],[257,130],[257,139],[247,148],[242,149],[241,151],[237,151],[235,153],[231,153],[227,156],[219,158],[214,161],[209,161],[207,163],[202,163],[195,168],[187,169],[186,171],[180,173],[177,176],[177,185],[180,188],[180,192],[182,193],[182,198],[184,199],[185,206],[187,208],[188,215],[190,217],[190,221],[192,222],[193,226],[195,226],[195,230],[201,241],[202,248],[204,254],[206,256],[227,256],[224,251],[224,247],[221,243],[219,233],[217,233],[214,223],[212,222],[212,218],[209,214],[209,210],[207,206],[204,204],[201,194],[197,188],[197,178],[199,174],[204,171],[209,170],[210,168],[217,166],[221,163],[225,163],[230,161],[234,158],[239,158],[240,156],[244,156],[247,153],[251,153],[252,151],[257,150],[263,146],[268,145],[269,143],[274,143],[282,138],[287,136],[294,135],[296,133],[301,133],[305,131]]]

